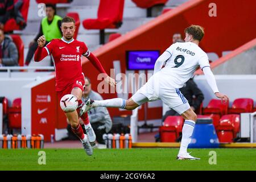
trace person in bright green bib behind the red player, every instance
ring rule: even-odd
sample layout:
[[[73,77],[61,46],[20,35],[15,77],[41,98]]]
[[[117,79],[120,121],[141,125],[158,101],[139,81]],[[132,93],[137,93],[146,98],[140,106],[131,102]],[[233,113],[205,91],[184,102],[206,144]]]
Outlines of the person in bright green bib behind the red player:
[[[29,44],[27,57],[25,59],[25,65],[30,64],[30,61],[38,47],[37,40],[40,36],[46,37],[46,44],[51,42],[52,39],[60,39],[62,37],[61,32],[61,20],[62,18],[56,15],[56,6],[52,4],[46,4],[46,17],[42,19],[38,35]],[[51,61],[51,65],[53,65]]]

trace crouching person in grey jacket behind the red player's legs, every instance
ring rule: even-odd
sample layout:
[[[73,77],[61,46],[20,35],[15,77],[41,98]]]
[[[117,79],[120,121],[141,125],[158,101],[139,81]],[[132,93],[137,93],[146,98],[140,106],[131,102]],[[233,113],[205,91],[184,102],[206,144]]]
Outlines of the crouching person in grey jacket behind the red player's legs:
[[[82,94],[82,101],[84,102],[86,98],[91,98],[92,100],[103,100],[100,94],[94,92],[92,90],[92,85],[90,84],[90,79],[85,77],[85,89],[84,93]],[[103,140],[102,136],[105,133],[109,133],[112,129],[112,119],[110,118],[109,111],[106,107],[96,107],[88,111],[88,117],[90,124],[93,127],[93,130],[96,134],[96,141],[97,141],[97,148],[106,148],[105,141]],[[82,119],[80,119],[80,124],[82,129],[85,131],[84,123]],[[71,131],[71,126],[68,125],[69,131],[69,138],[77,138],[75,134]]]

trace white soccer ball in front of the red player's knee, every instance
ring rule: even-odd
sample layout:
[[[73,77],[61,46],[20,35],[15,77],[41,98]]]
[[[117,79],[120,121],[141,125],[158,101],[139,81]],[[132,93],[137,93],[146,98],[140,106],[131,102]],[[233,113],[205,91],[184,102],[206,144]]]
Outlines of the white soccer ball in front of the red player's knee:
[[[65,113],[75,111],[77,109],[78,102],[76,96],[67,94],[60,100],[60,107]]]

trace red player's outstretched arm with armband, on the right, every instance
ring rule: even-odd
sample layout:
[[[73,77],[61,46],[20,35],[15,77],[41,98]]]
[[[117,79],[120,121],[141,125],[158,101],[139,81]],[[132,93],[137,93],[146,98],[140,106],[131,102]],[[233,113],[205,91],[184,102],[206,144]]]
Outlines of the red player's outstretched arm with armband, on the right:
[[[105,72],[105,69],[102,67],[100,60],[98,60],[98,58],[94,56],[92,52],[87,50],[83,56],[87,57],[100,73],[105,73],[105,81],[108,82],[109,85],[114,86],[117,84],[115,79],[108,76],[108,74]]]

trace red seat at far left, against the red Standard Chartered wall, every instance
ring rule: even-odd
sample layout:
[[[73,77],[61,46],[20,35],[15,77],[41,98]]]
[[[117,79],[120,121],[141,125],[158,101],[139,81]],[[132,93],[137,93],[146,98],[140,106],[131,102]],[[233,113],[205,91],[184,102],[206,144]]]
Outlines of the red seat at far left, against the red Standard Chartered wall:
[[[16,98],[9,107],[8,119],[10,129],[21,128],[21,98]]]

